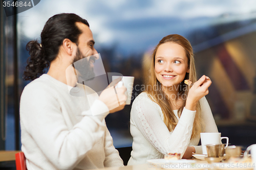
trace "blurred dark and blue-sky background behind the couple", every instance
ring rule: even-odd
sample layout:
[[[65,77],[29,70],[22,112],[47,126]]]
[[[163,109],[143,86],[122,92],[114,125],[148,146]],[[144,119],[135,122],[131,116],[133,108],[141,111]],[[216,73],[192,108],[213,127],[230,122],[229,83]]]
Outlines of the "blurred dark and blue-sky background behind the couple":
[[[45,22],[58,13],[88,20],[105,72],[135,77],[133,99],[143,90],[154,46],[166,35],[184,36],[194,48],[198,78],[212,80],[206,99],[219,132],[244,149],[256,143],[256,1],[44,0],[33,6],[8,17],[0,7],[0,150],[20,150],[19,99],[29,83],[22,79],[25,46],[40,41]],[[131,106],[106,117],[116,148],[131,149]]]

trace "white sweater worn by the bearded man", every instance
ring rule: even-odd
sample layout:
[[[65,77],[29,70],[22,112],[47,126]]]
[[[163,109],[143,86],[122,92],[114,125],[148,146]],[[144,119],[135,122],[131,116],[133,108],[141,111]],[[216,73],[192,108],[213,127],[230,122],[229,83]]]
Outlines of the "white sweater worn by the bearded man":
[[[28,170],[123,166],[104,122],[108,107],[87,86],[71,91],[46,74],[24,88],[20,127]]]

